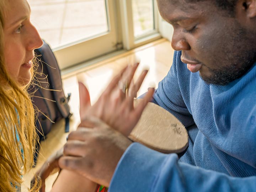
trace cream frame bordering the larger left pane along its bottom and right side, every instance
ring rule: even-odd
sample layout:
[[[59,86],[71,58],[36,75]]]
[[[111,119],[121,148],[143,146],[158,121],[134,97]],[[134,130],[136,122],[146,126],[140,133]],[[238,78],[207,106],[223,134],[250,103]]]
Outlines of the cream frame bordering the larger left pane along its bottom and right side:
[[[116,50],[117,22],[114,1],[105,0],[108,32],[53,49],[60,69],[69,68],[98,55]]]

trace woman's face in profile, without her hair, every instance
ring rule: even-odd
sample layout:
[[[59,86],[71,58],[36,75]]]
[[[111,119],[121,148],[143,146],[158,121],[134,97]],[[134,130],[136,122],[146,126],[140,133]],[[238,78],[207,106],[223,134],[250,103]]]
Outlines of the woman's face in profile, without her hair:
[[[26,0],[6,1],[4,56],[7,71],[22,86],[31,80],[34,49],[43,42],[30,22],[30,6]]]

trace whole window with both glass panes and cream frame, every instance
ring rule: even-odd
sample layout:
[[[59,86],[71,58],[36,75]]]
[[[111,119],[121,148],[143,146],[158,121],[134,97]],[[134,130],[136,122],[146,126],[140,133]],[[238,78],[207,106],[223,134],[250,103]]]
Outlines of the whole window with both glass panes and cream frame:
[[[31,21],[53,48],[61,69],[160,38],[155,0],[28,2]]]

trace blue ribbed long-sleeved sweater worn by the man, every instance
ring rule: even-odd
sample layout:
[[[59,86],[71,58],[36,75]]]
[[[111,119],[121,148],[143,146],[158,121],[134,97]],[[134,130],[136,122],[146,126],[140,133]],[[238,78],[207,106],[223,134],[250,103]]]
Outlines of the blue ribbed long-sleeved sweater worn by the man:
[[[174,53],[154,102],[187,127],[187,152],[178,159],[133,143],[110,192],[256,191],[256,64],[228,85],[207,85],[180,57]]]

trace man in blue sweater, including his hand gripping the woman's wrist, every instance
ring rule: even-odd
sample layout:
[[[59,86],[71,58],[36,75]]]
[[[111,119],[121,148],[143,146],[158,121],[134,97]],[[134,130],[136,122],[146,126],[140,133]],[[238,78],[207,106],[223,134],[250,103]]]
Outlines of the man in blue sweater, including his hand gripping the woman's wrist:
[[[161,154],[91,122],[97,129],[72,134],[80,143],[67,144],[64,154],[75,157],[64,156],[60,166],[110,191],[256,190],[256,0],[158,6],[174,27],[177,51],[154,102],[187,127],[187,152]]]

